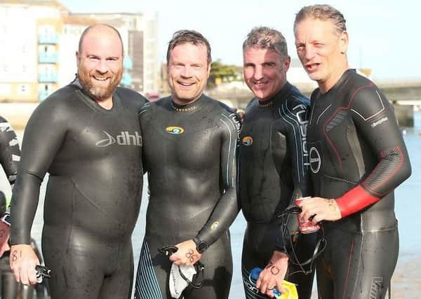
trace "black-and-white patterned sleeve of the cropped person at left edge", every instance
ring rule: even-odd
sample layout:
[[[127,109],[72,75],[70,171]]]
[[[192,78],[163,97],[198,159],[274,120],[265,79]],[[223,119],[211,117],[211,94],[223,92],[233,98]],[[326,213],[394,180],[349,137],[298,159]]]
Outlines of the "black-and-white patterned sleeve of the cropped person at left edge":
[[[12,188],[16,180],[19,161],[18,137],[8,121],[0,116],[0,163]]]

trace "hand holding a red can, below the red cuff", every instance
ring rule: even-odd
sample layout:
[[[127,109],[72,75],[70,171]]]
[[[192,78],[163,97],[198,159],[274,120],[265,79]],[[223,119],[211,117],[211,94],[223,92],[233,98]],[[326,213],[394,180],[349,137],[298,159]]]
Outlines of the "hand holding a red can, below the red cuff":
[[[310,219],[314,224],[323,220],[337,221],[342,218],[336,200],[312,197],[308,200],[302,200],[298,205],[302,209],[302,213],[299,216],[304,219],[304,221]]]

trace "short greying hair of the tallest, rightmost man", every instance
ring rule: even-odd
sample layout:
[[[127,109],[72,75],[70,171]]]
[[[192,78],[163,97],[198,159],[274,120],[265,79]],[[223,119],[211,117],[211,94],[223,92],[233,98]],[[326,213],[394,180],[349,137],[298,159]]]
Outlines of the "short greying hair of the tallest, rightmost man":
[[[344,15],[338,9],[328,4],[317,4],[301,8],[297,15],[295,15],[294,30],[298,23],[306,18],[314,18],[322,21],[330,20],[335,25],[335,32],[338,34],[347,31]]]

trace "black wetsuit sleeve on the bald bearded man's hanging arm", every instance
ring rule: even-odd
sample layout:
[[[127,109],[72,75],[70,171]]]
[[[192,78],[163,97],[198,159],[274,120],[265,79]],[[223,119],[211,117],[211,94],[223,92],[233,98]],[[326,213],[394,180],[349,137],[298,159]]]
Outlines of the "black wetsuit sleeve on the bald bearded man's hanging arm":
[[[39,200],[39,188],[58,152],[69,120],[60,103],[41,103],[32,113],[22,141],[22,160],[11,202],[11,242],[31,244],[31,227]]]

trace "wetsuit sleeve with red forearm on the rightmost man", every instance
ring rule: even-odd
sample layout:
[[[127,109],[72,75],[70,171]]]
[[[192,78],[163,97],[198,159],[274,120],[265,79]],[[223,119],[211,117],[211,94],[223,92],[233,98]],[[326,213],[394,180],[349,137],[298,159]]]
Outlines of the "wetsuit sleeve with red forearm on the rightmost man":
[[[381,200],[411,172],[392,104],[380,90],[373,83],[362,86],[352,94],[350,106],[357,134],[370,146],[377,164],[358,186],[337,199],[342,218]]]

